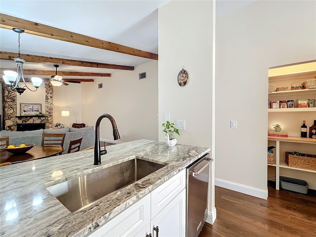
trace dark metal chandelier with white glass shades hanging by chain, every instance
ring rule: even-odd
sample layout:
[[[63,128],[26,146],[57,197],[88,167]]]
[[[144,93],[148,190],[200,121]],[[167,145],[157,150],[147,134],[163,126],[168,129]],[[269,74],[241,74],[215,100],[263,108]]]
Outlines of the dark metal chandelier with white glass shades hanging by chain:
[[[17,72],[4,71],[3,72],[4,76],[2,76],[2,78],[4,80],[4,83],[9,87],[9,89],[15,90],[16,92],[18,92],[21,95],[26,90],[26,88],[28,88],[31,91],[36,91],[40,87],[40,83],[41,83],[42,79],[36,78],[36,77],[31,78],[32,83],[35,87],[35,90],[32,90],[27,86],[25,79],[24,79],[24,75],[23,75],[23,63],[25,62],[25,60],[22,59],[21,55],[20,55],[20,34],[24,33],[24,30],[19,29],[19,28],[13,28],[12,30],[19,34],[19,38],[18,38],[19,55],[17,56],[17,58],[14,58],[14,61],[17,65]],[[20,82],[21,78],[24,82],[23,87],[19,86],[19,82]]]

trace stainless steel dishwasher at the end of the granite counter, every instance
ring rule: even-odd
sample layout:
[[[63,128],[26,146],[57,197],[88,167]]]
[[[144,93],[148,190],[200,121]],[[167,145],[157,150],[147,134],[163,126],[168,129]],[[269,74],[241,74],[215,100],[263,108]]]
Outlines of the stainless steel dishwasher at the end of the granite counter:
[[[209,165],[207,153],[187,167],[187,237],[197,237],[206,220]]]

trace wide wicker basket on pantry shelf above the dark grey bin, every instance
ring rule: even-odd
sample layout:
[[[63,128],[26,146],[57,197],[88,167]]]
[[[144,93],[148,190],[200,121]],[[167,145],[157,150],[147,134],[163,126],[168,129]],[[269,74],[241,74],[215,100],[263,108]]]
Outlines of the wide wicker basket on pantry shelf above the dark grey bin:
[[[316,170],[316,155],[304,155],[307,157],[294,156],[292,152],[285,152],[285,162],[290,167]]]

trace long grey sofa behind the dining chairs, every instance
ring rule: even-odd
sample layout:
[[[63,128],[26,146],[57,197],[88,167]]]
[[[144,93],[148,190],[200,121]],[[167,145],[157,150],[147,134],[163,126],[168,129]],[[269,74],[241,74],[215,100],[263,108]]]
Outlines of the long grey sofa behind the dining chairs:
[[[9,137],[9,144],[34,143],[36,146],[40,146],[41,135],[43,133],[66,133],[64,140],[65,151],[63,154],[67,153],[70,141],[78,139],[81,136],[82,142],[80,150],[94,146],[95,131],[93,126],[83,128],[65,127],[59,129],[39,129],[24,132],[2,130],[0,131],[0,137]]]

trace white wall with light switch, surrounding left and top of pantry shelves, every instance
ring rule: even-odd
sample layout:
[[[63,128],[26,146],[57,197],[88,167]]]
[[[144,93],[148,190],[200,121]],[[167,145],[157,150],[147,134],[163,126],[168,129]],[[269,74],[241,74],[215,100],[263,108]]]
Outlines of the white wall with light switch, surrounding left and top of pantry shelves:
[[[315,9],[259,0],[216,18],[216,184],[264,198],[268,68],[316,58]]]

